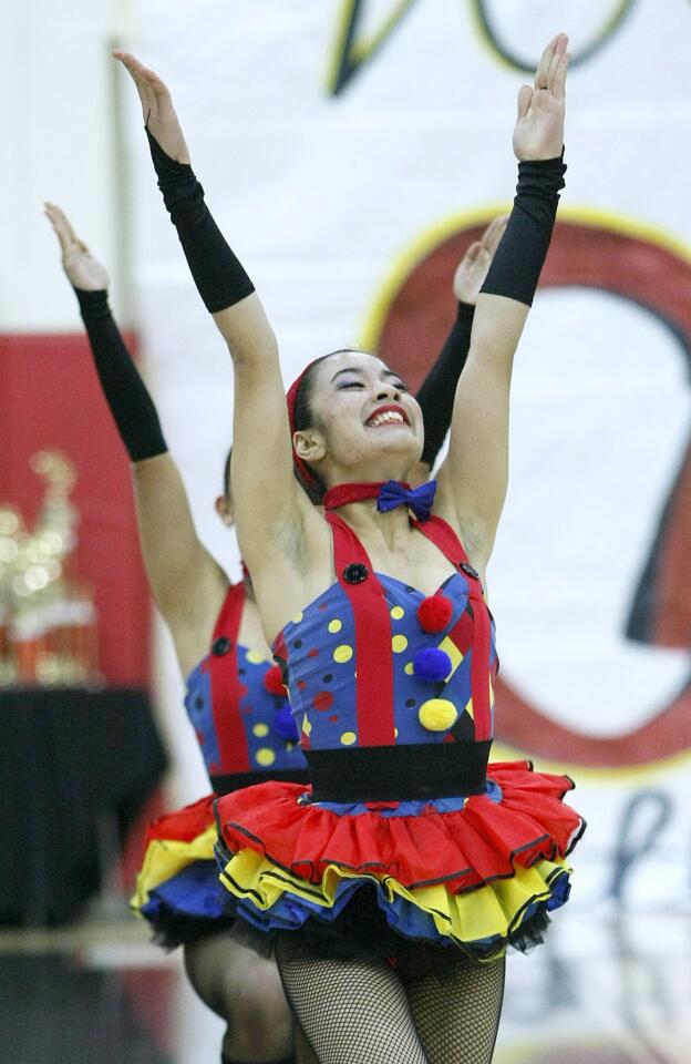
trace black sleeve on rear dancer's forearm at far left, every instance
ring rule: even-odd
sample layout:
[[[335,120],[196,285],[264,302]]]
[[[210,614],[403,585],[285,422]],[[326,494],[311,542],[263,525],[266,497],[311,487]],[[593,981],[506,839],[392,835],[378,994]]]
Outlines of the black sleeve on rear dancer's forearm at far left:
[[[120,438],[133,462],[167,451],[156,408],[132,361],[107,301],[107,291],[75,288],[82,319]]]

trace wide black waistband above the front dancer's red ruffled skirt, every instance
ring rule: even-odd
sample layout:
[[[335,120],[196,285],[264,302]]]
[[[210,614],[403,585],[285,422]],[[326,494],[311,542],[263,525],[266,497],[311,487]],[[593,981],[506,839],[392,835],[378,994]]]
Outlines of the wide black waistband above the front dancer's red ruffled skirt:
[[[314,801],[405,801],[479,795],[492,740],[306,750]]]

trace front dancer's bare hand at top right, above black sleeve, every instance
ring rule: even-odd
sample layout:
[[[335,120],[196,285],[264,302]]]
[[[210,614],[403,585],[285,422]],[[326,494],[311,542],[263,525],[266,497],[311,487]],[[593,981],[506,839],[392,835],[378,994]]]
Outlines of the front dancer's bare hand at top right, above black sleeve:
[[[518,91],[514,153],[522,161],[556,158],[561,154],[567,45],[566,33],[557,33],[543,52],[534,88],[523,85]]]

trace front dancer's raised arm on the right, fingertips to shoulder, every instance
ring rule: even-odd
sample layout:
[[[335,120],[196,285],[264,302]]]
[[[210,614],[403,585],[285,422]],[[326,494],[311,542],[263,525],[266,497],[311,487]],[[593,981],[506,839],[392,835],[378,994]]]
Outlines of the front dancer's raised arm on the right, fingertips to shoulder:
[[[514,354],[564,187],[567,44],[568,38],[560,33],[547,45],[534,88],[524,85],[518,94],[516,198],[477,299],[471,350],[456,388],[448,454],[439,475],[441,505],[455,513],[479,569],[492,553],[506,495]]]

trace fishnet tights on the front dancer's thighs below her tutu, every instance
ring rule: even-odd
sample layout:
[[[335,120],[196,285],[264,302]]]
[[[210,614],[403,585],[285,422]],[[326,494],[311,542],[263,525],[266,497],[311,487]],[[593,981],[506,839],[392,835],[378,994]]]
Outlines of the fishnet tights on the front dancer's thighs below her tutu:
[[[278,968],[319,1064],[491,1064],[504,961],[458,955],[440,978],[384,960],[306,956],[283,937]]]

